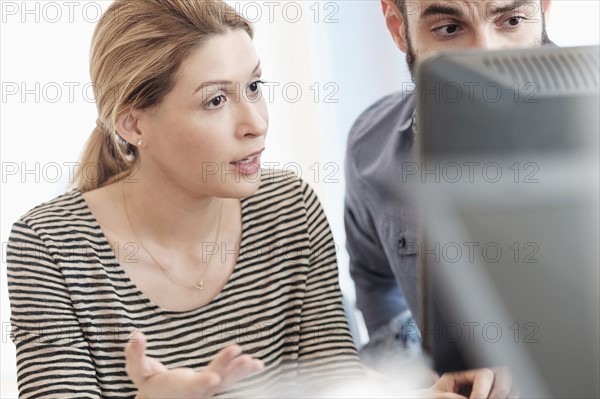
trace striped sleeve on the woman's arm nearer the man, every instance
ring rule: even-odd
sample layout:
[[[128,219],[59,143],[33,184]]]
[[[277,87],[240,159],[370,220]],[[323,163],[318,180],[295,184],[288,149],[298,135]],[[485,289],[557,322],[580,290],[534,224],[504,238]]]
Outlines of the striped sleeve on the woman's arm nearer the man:
[[[310,245],[300,323],[301,368],[319,379],[355,377],[362,368],[342,305],[336,245],[317,196],[305,182],[301,184]]]

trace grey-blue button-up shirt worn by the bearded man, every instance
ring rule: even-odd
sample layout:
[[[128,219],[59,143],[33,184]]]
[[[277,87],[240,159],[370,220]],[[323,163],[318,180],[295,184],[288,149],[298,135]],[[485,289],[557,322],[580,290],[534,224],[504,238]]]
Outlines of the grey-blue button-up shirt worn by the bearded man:
[[[371,341],[377,330],[403,342],[418,338],[393,321],[406,321],[418,306],[416,212],[403,184],[407,165],[414,167],[414,111],[414,94],[387,96],[363,112],[348,138],[346,246]],[[406,331],[413,336],[399,336]]]

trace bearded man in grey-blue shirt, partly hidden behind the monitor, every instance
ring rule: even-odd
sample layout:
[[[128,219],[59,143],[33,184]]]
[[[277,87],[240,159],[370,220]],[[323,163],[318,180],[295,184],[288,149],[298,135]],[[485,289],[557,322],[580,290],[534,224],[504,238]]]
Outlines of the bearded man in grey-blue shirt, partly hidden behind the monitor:
[[[437,51],[500,49],[550,43],[550,0],[381,0],[387,28],[415,62]],[[414,158],[415,95],[397,93],[369,107],[350,131],[346,154],[345,224],[350,273],[370,342],[362,357],[418,352],[417,217],[402,164]],[[412,310],[412,312],[411,312]],[[408,328],[407,328],[408,326]]]

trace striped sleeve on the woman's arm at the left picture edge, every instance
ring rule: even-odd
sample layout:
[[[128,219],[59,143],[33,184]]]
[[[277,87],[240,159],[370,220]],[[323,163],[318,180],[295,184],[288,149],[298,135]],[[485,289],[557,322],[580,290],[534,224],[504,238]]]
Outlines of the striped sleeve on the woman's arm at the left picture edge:
[[[7,246],[12,339],[22,398],[100,398],[96,371],[65,278],[26,222]]]

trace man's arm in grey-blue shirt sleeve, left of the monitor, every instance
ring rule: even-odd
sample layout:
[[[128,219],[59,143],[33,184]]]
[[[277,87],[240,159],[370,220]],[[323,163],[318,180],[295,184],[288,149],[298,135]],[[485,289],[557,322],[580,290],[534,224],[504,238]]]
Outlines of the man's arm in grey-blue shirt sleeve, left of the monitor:
[[[374,173],[385,168],[381,170],[384,176],[395,175],[395,158],[390,154],[401,150],[399,146],[405,141],[409,143],[402,131],[410,128],[413,111],[414,101],[406,94],[386,96],[357,118],[348,135],[344,164],[346,247],[357,306],[369,335],[408,308],[384,250],[385,237],[381,236],[386,204],[380,203],[379,190],[389,187],[378,186],[385,179],[374,178]]]

